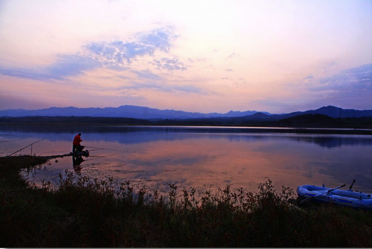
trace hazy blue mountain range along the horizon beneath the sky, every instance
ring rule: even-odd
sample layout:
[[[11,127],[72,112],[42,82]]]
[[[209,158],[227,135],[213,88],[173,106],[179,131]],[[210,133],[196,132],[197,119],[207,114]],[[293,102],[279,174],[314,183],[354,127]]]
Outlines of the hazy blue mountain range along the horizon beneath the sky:
[[[359,118],[372,116],[372,110],[341,109],[327,106],[305,112],[292,112],[288,114],[271,114],[257,111],[230,111],[228,113],[192,113],[175,110],[159,110],[148,107],[120,106],[117,108],[76,108],[76,107],[51,107],[39,110],[9,109],[0,111],[0,117],[24,117],[24,116],[90,116],[90,117],[125,117],[136,119],[197,119],[197,118],[233,118],[241,117],[244,120],[252,119],[284,119],[304,114],[323,114],[332,118]]]

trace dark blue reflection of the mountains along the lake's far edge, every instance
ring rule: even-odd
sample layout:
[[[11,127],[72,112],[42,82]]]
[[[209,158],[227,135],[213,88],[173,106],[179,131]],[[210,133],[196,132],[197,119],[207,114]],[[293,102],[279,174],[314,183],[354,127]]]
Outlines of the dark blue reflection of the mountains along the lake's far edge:
[[[159,140],[180,140],[187,139],[188,136],[208,136],[219,140],[220,135],[229,140],[272,140],[272,139],[293,139],[300,142],[314,143],[316,145],[332,148],[343,145],[371,145],[370,135],[340,135],[340,134],[301,134],[301,133],[282,133],[267,132],[263,129],[245,128],[226,128],[226,127],[125,127],[125,126],[103,126],[103,127],[69,127],[69,126],[28,126],[25,130],[22,126],[7,127],[2,126],[4,132],[10,131],[13,134],[27,138],[40,138],[40,134],[45,137],[53,136],[51,140],[72,141],[76,130],[83,133],[85,139],[89,141],[113,141],[119,143],[147,143]],[[287,129],[280,129],[286,131]],[[172,134],[171,136],[167,134]],[[182,136],[188,134],[188,136]],[[71,138],[72,137],[72,138]],[[356,137],[358,139],[356,139]],[[86,140],[86,141],[87,141]]]

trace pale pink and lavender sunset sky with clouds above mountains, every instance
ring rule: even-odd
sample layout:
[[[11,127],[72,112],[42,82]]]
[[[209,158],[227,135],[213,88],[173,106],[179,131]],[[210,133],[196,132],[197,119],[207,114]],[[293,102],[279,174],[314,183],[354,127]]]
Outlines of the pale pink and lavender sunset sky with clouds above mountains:
[[[372,0],[2,0],[0,110],[372,109]]]

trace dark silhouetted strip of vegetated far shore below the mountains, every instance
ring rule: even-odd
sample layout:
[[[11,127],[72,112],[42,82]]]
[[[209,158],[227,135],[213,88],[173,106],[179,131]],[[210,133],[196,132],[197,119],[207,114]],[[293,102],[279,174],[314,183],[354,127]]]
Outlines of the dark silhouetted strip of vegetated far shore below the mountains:
[[[304,114],[285,119],[271,118],[265,115],[261,118],[260,113],[250,116],[234,118],[205,118],[205,119],[132,119],[110,117],[2,117],[0,124],[28,127],[39,126],[63,126],[62,129],[71,126],[238,126],[238,127],[288,127],[301,128],[299,130],[285,132],[301,133],[339,133],[339,134],[372,134],[372,117],[361,118],[332,118],[322,114]],[[344,128],[344,129],[369,129],[368,131],[326,131],[304,130],[302,128]],[[48,129],[48,128],[46,128]],[[274,131],[274,130],[271,130]],[[283,132],[275,130],[275,132]]]

